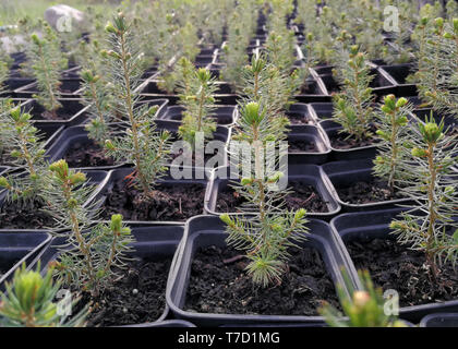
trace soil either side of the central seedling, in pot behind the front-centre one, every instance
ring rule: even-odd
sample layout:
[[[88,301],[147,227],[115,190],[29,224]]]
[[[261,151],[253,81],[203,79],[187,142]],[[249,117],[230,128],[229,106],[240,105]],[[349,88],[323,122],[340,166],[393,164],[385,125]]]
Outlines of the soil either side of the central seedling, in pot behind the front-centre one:
[[[309,213],[329,212],[326,202],[313,186],[303,182],[289,182],[288,188],[292,192],[286,196],[288,209],[305,208]],[[216,212],[240,213],[238,207],[245,202],[232,186],[227,186],[224,191],[218,192]]]

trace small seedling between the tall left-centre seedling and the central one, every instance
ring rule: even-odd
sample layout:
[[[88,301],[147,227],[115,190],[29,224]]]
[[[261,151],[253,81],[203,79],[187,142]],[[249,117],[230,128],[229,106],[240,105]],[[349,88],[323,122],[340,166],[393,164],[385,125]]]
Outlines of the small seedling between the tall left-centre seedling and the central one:
[[[216,131],[216,121],[210,116],[215,109],[215,79],[207,69],[200,68],[190,81],[190,94],[181,97],[185,111],[178,133],[193,148],[197,133],[203,133],[205,140],[212,140]]]

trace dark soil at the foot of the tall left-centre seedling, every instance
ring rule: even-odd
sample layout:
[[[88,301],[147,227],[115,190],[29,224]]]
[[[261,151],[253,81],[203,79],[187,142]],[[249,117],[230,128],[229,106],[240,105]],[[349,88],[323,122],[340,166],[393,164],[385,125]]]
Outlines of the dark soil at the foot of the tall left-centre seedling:
[[[122,179],[108,192],[104,204],[105,219],[121,214],[125,220],[186,220],[204,212],[205,185],[158,184],[155,196],[145,198],[142,191]]]

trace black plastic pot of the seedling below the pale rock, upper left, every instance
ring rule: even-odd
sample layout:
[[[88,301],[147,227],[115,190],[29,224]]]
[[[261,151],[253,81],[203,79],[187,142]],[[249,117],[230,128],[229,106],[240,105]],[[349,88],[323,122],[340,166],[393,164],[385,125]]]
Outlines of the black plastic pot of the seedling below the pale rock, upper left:
[[[58,116],[65,115],[67,119],[44,119],[41,113],[45,111],[45,108],[38,104],[35,99],[27,99],[21,104],[21,109],[32,113],[34,121],[39,122],[40,124],[52,123],[58,125],[74,125],[84,122],[87,119],[86,110],[88,107],[84,107],[81,99],[76,98],[60,98],[59,101],[62,105],[57,111]]]

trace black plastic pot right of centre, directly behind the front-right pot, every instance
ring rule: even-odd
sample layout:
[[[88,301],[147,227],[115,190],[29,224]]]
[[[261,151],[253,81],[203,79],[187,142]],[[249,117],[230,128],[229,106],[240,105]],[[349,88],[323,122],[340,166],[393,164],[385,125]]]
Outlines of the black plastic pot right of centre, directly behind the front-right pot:
[[[322,166],[323,171],[327,174],[325,180],[328,182],[327,188],[336,197],[345,212],[354,212],[363,209],[389,208],[396,205],[408,205],[411,203],[409,198],[398,198],[391,201],[374,202],[370,204],[351,204],[343,202],[338,193],[340,188],[348,188],[357,182],[371,182],[375,177],[373,174],[373,161],[371,159],[335,161]]]

